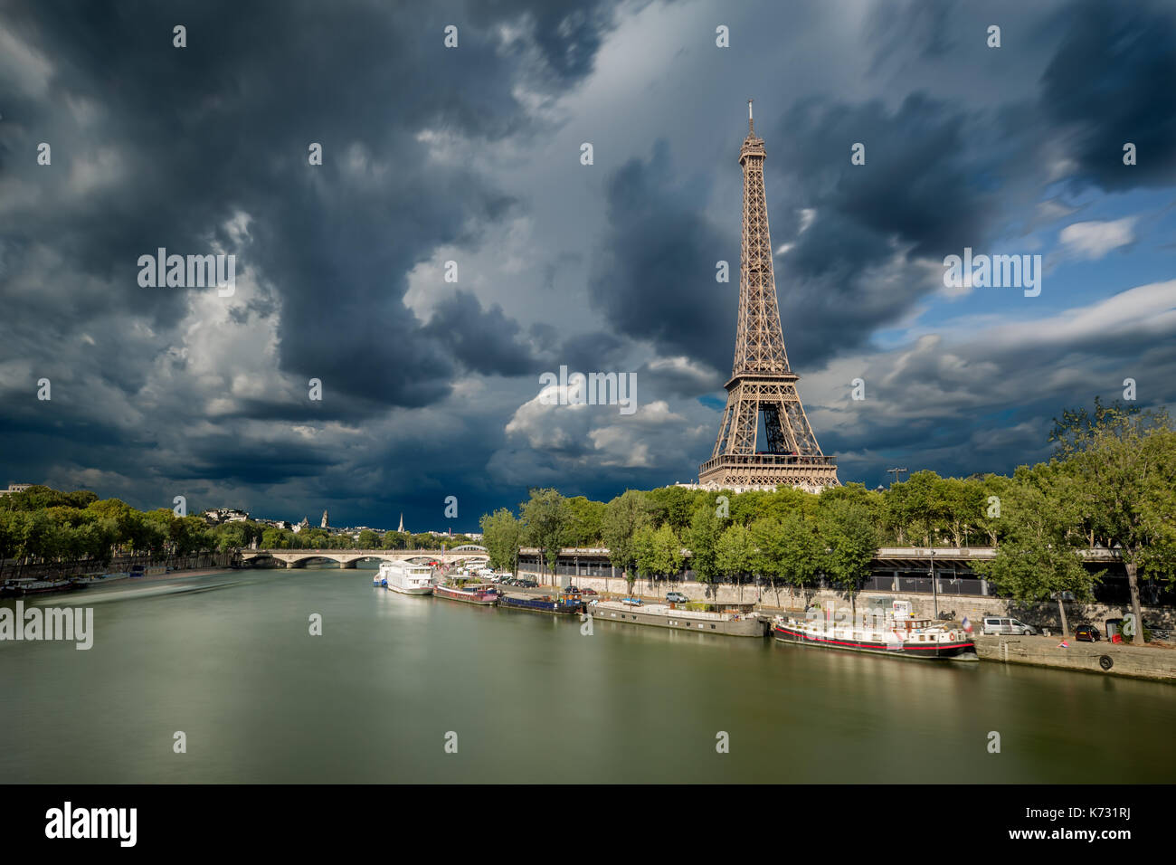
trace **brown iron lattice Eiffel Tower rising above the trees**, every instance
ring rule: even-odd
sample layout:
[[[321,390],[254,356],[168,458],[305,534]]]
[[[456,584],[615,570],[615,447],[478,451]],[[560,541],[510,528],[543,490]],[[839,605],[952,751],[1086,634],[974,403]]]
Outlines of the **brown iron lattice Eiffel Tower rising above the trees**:
[[[822,454],[816,444],[796,393],[800,375],[789,368],[784,352],[763,191],[763,139],[755,134],[750,99],[747,122],[747,138],[739,153],[743,167],[743,247],[735,364],[726,385],[727,408],[715,450],[699,466],[699,484],[736,492],[776,486],[820,492],[827,486],[841,486],[837,460]],[[767,439],[763,443],[759,440],[761,414]]]

